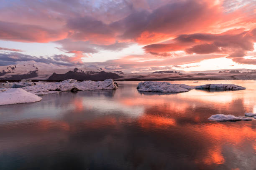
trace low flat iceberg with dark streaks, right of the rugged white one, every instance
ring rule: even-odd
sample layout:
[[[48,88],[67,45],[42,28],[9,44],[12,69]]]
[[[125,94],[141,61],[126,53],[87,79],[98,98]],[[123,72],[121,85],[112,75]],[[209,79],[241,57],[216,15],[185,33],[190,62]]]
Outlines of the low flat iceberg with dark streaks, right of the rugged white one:
[[[206,84],[206,85],[198,85],[195,86],[195,89],[199,90],[244,90],[245,87],[239,86],[239,85],[233,85],[233,84]]]

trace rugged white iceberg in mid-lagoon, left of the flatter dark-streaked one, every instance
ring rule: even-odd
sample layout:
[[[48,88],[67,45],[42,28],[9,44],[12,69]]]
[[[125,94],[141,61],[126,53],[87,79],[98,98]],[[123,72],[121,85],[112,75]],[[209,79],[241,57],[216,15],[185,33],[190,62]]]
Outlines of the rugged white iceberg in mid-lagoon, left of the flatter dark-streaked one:
[[[169,82],[144,81],[137,86],[140,92],[188,92],[194,87],[184,84],[171,84]]]

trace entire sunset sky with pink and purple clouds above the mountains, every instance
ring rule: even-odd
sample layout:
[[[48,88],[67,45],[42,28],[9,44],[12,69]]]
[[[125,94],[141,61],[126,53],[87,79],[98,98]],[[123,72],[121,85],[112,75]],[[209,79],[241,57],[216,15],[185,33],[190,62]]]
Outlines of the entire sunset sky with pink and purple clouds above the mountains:
[[[256,0],[0,0],[0,65],[256,69]]]

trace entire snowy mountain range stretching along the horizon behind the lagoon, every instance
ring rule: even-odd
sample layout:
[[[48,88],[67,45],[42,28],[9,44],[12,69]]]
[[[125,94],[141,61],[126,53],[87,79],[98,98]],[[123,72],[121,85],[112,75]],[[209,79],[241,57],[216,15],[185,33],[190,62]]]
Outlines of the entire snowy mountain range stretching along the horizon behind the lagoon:
[[[256,79],[256,70],[231,69],[180,72],[176,70],[125,73],[105,70],[100,67],[57,66],[41,62],[19,62],[0,66],[0,80],[251,80]]]

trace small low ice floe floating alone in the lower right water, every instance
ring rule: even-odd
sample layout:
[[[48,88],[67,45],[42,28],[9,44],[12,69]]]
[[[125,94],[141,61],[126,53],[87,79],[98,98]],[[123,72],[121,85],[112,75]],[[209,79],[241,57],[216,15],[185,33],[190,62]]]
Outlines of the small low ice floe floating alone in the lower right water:
[[[244,116],[234,116],[234,115],[211,115],[208,120],[216,120],[216,121],[239,121],[239,120],[253,120],[252,117],[244,117]]]

